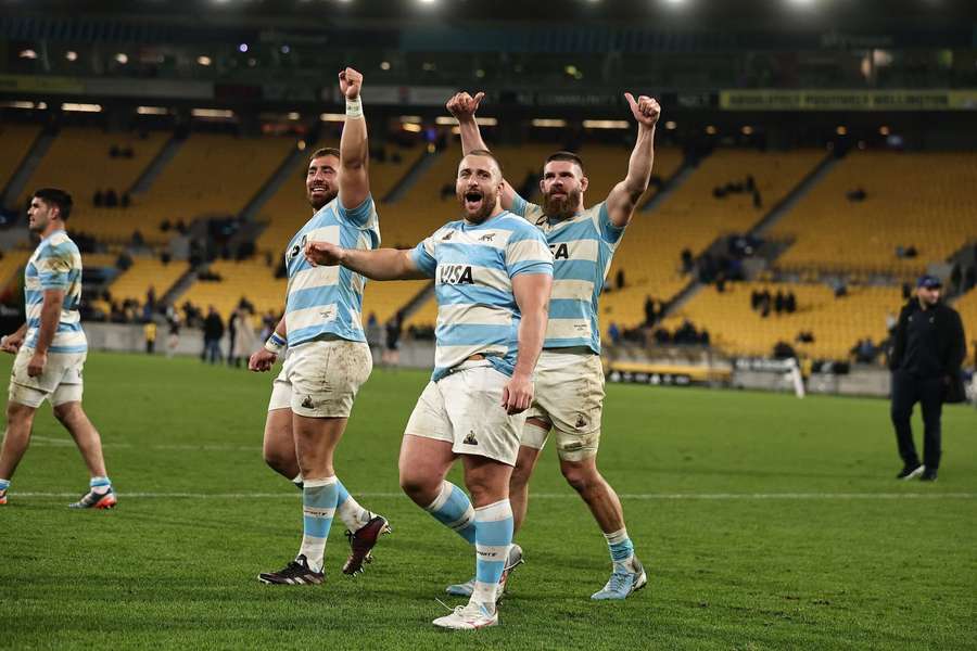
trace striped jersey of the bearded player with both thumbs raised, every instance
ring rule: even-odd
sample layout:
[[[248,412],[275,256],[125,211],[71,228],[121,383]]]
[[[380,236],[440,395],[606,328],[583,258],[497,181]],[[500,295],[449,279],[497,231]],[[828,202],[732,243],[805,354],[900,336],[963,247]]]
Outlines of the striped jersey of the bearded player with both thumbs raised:
[[[611,224],[606,202],[570,219],[551,221],[541,206],[517,194],[512,212],[535,224],[553,252],[553,293],[543,347],[586,346],[599,355],[597,305],[624,228]]]

